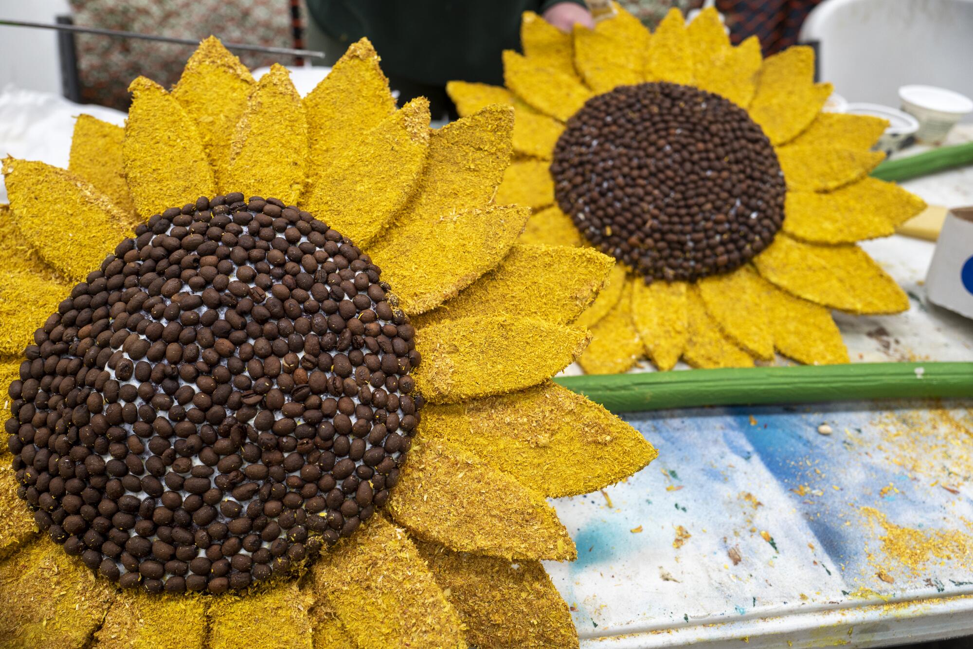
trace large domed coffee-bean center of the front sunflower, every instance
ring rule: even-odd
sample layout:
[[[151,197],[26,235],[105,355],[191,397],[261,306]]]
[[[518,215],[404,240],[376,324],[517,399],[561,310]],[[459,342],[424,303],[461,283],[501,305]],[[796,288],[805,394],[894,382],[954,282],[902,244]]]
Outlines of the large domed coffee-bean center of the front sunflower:
[[[149,592],[243,589],[388,498],[422,398],[379,269],[306,211],[165,210],[34,334],[6,422],[68,554]]]

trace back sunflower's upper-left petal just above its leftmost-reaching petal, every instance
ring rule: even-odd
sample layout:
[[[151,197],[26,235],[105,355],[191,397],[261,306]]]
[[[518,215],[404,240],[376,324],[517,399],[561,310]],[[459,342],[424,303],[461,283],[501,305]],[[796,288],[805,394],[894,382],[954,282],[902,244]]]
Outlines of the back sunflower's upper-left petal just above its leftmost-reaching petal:
[[[510,50],[503,52],[503,79],[507,88],[532,107],[561,122],[592,96],[573,74],[536,65]]]

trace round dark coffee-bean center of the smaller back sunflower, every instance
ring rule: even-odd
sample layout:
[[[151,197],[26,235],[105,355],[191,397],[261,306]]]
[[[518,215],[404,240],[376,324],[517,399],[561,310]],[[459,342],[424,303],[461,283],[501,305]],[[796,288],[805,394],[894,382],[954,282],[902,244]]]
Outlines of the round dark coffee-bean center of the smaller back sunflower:
[[[767,136],[730,100],[688,86],[593,97],[568,120],[551,174],[578,230],[647,282],[732,271],[783,221]]]

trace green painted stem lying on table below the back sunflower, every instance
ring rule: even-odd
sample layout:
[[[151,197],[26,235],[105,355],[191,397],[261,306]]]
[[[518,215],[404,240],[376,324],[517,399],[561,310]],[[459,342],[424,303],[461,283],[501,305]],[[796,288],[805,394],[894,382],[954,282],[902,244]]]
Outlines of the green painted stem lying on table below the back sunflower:
[[[854,363],[559,376],[613,412],[700,405],[973,399],[973,363]]]

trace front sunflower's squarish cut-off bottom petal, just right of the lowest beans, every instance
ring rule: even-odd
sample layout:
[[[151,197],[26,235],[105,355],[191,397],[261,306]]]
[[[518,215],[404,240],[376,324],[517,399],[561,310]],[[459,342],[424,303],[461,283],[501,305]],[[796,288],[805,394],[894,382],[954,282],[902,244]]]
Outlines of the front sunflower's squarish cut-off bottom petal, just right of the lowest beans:
[[[213,598],[206,614],[208,649],[312,649],[313,628],[307,611],[313,599],[296,582],[282,582],[245,596]]]

